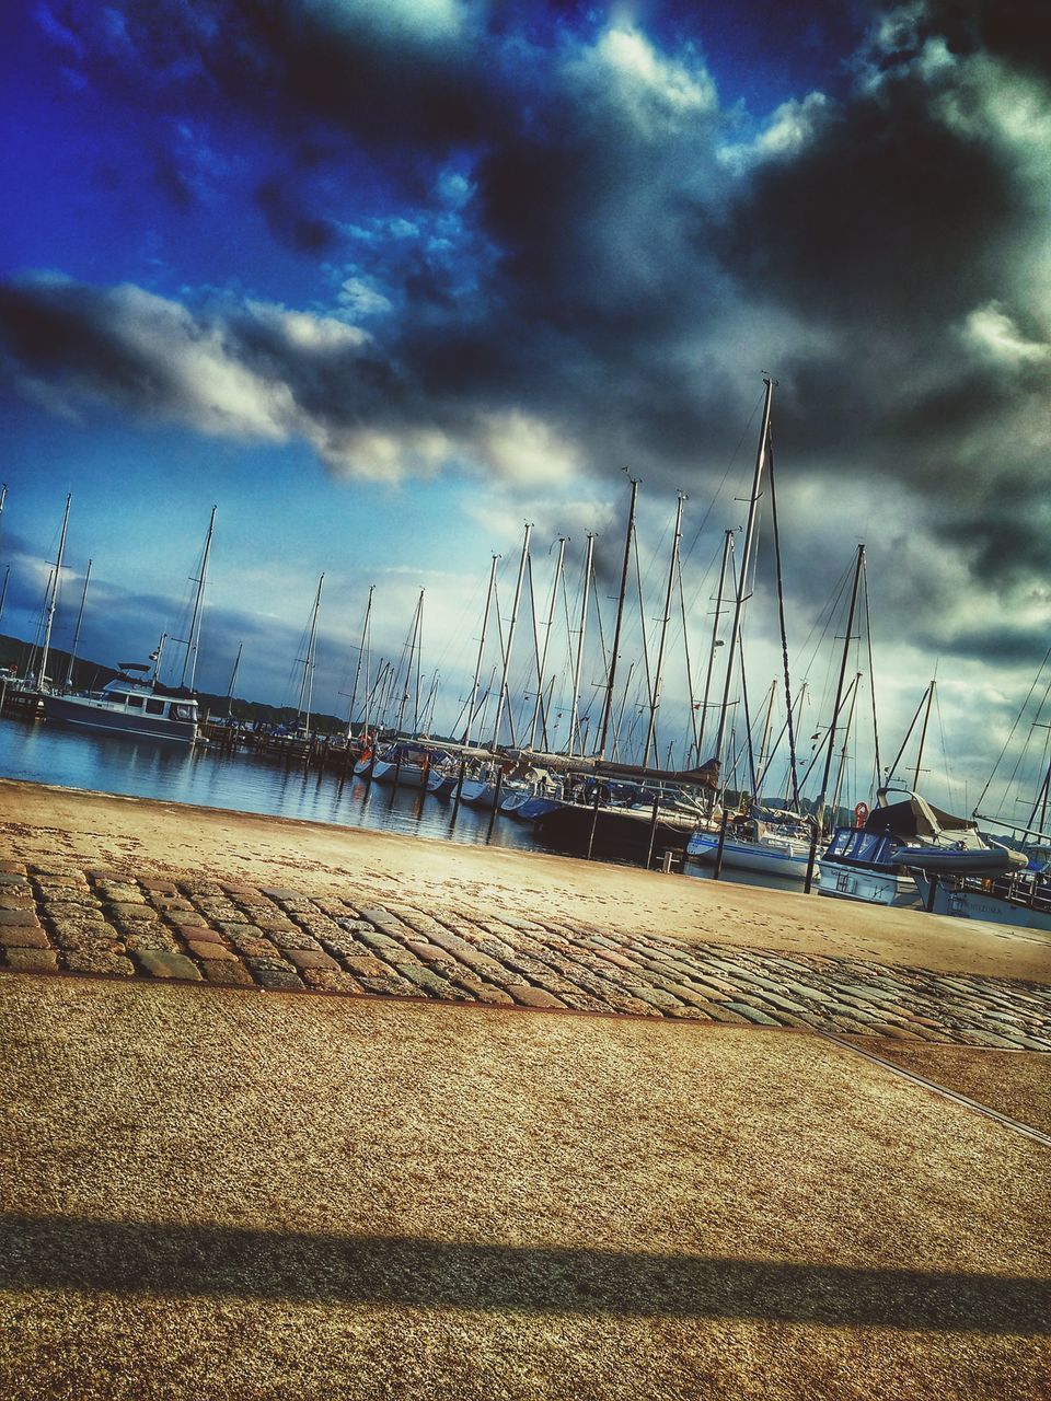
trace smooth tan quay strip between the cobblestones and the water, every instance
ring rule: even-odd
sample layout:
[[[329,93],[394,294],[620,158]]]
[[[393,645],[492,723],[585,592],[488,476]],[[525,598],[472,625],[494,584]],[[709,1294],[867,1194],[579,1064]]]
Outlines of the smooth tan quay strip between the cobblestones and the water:
[[[573,857],[14,780],[0,780],[0,834],[24,859],[64,855],[118,870],[198,871],[497,916],[572,915],[635,933],[1051,981],[1051,937]]]

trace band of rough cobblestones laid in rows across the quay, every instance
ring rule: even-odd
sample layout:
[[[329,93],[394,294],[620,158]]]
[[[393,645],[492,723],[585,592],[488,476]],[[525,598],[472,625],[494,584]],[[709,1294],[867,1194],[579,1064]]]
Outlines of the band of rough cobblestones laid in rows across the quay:
[[[228,881],[0,863],[8,971],[813,1027],[1051,1051],[1051,986]]]

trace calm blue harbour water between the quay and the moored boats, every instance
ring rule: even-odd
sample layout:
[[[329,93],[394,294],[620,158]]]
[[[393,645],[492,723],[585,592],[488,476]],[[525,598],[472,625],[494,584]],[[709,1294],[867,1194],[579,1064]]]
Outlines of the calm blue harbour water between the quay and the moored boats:
[[[231,808],[270,817],[296,817],[334,827],[419,834],[468,845],[544,850],[531,825],[461,807],[419,789],[392,790],[360,779],[283,764],[251,752],[226,754],[206,745],[182,747],[149,740],[80,734],[43,722],[0,719],[0,776],[60,787],[92,789],[195,807]],[[687,863],[687,874],[710,877],[710,867]],[[750,871],[726,876],[753,885],[793,890],[790,883]]]

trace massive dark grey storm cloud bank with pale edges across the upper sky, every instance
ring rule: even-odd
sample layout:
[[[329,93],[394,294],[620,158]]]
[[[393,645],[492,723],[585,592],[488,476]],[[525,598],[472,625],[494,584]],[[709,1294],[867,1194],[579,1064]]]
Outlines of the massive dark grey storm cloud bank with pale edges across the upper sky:
[[[6,342],[31,374],[198,423],[202,377],[188,388],[164,335],[140,332],[167,328],[184,360],[205,342],[251,380],[205,415],[209,430],[301,433],[339,469],[370,430],[448,436],[429,468],[469,460],[486,415],[526,406],[593,469],[631,461],[647,489],[695,499],[769,367],[786,492],[793,474],[876,495],[902,483],[916,532],[1008,588],[1048,567],[1002,545],[1017,483],[1043,479],[1047,451],[1048,328],[1031,286],[1051,189],[998,106],[1017,80],[1051,112],[1047,25],[1023,42],[1037,11],[902,7],[855,56],[849,92],[800,94],[757,139],[696,49],[559,7],[126,3],[102,24],[71,6],[62,22],[92,81],[150,109],[147,87],[171,111],[224,104],[275,137],[289,174],[256,198],[282,242],[331,255],[346,238],[294,172],[332,170],[348,146],[383,165],[383,214],[409,193],[433,213],[448,161],[467,193],[454,235],[363,241],[359,263],[392,308],[366,345],[331,326],[293,333],[279,308],[181,321],[139,301],[132,315],[128,294],[74,284],[11,290]],[[667,15],[664,29],[685,32]],[[1015,483],[995,528],[991,481]],[[953,583],[932,587],[942,600]]]

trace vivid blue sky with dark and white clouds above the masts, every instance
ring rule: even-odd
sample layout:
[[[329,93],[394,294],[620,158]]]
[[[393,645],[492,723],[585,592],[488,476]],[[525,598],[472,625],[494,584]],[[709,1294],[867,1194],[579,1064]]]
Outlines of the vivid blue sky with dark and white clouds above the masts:
[[[970,806],[1020,745],[1051,642],[1041,0],[27,0],[6,20],[0,630],[35,635],[70,495],[56,643],[88,559],[84,656],[185,636],[214,506],[203,689],[226,692],[242,644],[237,692],[294,703],[324,573],[315,705],[349,706],[370,586],[373,670],[423,590],[420,667],[453,729],[490,558],[506,635],[530,523],[541,621],[568,538],[545,671],[565,729],[586,535],[608,646],[626,468],[619,675],[645,674],[643,626],[653,674],[682,492],[699,692],[767,373],[804,755],[859,542],[858,796],[872,689],[886,768],[936,672],[936,801]],[[768,495],[762,520],[753,722],[781,675]],[[531,612],[527,593],[516,695],[535,693]],[[659,738],[678,762],[696,693],[673,612]],[[638,748],[645,695],[624,713]]]

